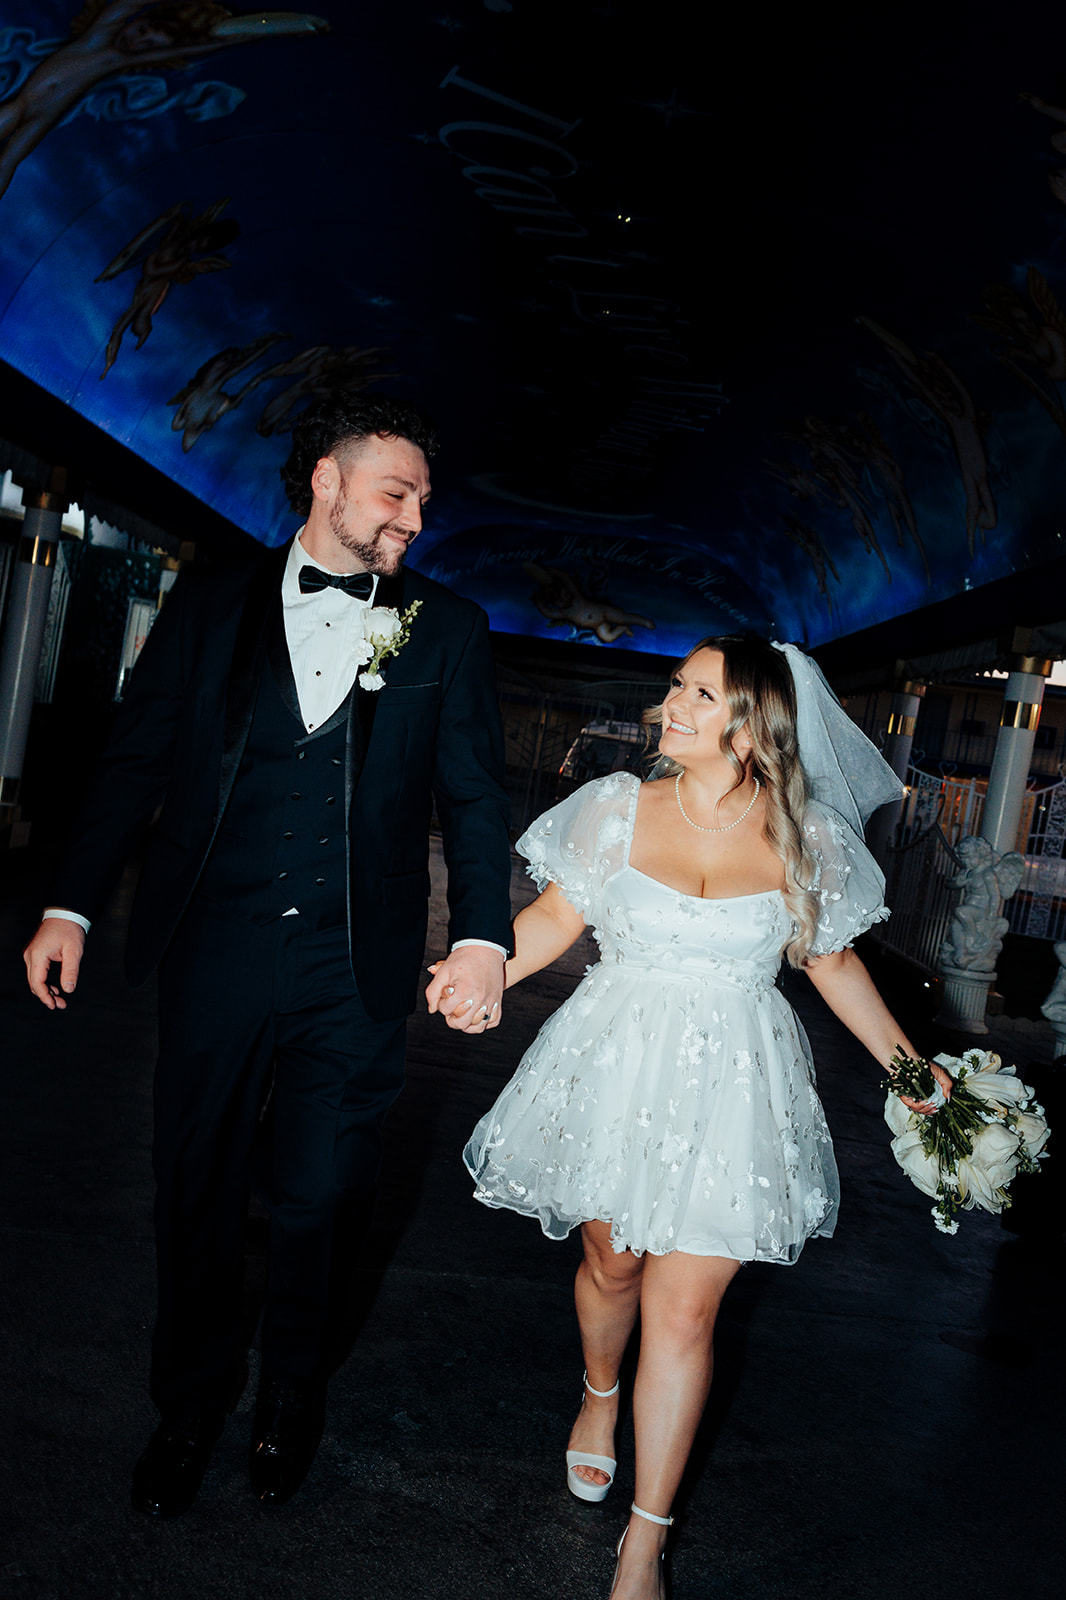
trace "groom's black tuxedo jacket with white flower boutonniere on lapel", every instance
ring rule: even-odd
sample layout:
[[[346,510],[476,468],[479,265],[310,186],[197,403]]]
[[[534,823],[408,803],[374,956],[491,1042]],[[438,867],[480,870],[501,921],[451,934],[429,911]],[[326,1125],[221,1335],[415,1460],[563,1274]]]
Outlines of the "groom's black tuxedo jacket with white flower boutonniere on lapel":
[[[243,754],[282,624],[288,547],[238,571],[189,568],[131,674],[50,904],[99,915],[147,822],[126,976],[144,982],[186,910]],[[511,949],[503,736],[485,613],[402,571],[375,605],[423,606],[386,686],[349,699],[346,814],[352,973],[376,1018],[415,1008],[429,901],[432,800],[448,862],[450,941]],[[282,635],[283,637],[283,635]],[[269,670],[269,669],[267,669]],[[240,907],[234,907],[240,915]]]

